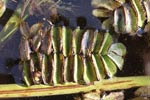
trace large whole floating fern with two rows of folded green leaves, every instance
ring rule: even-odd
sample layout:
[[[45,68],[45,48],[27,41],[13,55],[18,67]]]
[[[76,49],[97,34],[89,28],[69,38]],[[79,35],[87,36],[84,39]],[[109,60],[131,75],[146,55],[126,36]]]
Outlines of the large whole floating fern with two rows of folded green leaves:
[[[92,84],[121,70],[126,48],[109,32],[42,23],[20,25],[20,68],[27,86]]]

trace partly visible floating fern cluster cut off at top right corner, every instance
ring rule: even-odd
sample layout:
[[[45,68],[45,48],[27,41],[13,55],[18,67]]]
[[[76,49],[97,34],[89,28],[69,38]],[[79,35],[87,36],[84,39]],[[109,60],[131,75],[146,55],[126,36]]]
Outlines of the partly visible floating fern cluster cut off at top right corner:
[[[142,35],[150,22],[150,0],[92,0],[93,15],[106,18],[102,27],[116,33]]]

